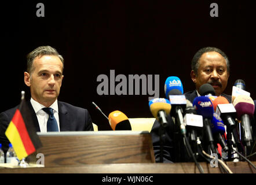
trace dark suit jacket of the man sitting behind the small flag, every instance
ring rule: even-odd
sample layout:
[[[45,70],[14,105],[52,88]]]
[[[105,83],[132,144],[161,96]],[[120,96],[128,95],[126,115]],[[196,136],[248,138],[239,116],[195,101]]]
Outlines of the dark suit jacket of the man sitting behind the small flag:
[[[27,105],[31,110],[36,132],[40,132],[38,119],[30,101],[27,102]],[[5,152],[9,147],[9,140],[5,136],[5,131],[18,106],[0,114],[0,143],[2,143],[2,149]],[[93,131],[92,119],[87,109],[58,101],[58,117],[60,121],[60,131]]]

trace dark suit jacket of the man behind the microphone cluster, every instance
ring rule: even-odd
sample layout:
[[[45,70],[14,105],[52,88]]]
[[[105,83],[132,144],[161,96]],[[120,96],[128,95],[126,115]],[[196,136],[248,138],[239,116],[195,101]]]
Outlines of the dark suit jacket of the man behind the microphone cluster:
[[[186,92],[186,99],[193,103],[193,100],[198,97],[196,90]],[[228,99],[231,103],[231,95],[221,94],[221,96]],[[170,114],[167,115],[167,127],[163,129],[163,162],[193,162],[192,158],[189,157],[187,150],[185,149],[184,143],[180,142],[182,136],[175,132],[174,121]],[[151,129],[151,138],[153,143],[153,150],[155,153],[156,162],[160,161],[160,123],[155,120],[153,127]],[[175,132],[175,133],[174,133]],[[178,143],[177,145],[177,142]]]

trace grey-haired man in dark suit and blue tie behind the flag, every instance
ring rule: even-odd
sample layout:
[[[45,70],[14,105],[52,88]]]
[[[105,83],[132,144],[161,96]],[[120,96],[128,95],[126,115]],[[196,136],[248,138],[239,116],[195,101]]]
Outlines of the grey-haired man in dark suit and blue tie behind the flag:
[[[24,82],[30,87],[31,99],[26,103],[31,110],[36,131],[93,131],[87,109],[57,100],[64,77],[63,69],[63,57],[53,47],[38,47],[27,56]],[[5,152],[9,145],[5,131],[17,107],[0,114],[0,143]],[[54,124],[54,127],[49,123]]]

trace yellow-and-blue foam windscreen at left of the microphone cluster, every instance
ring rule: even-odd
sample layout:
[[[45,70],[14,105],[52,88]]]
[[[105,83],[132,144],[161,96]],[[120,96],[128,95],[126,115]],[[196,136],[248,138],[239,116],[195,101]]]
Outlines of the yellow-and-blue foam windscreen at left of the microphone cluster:
[[[156,119],[158,118],[159,110],[164,110],[166,114],[170,114],[171,103],[168,99],[154,98],[149,101],[148,105],[153,117],[155,117]]]

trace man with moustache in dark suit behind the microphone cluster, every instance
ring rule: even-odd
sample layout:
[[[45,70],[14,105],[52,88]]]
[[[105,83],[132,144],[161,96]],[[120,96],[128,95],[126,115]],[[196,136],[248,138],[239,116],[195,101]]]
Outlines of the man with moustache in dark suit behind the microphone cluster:
[[[215,95],[223,96],[231,103],[231,95],[222,94],[228,83],[229,77],[229,60],[226,54],[215,47],[204,47],[200,49],[192,59],[191,62],[191,79],[195,83],[196,90],[186,92],[184,95],[186,99],[193,102],[193,100],[200,96],[199,88],[209,83],[215,90]],[[170,115],[167,116],[169,124],[163,131],[163,162],[187,162],[192,161],[189,157],[183,142],[178,146],[175,138],[175,128],[173,119]],[[153,149],[155,152],[156,162],[160,162],[160,123],[156,120],[151,129],[151,136],[153,142]],[[177,136],[177,134],[176,134]],[[181,139],[181,138],[178,138]],[[177,151],[178,150],[178,151]]]

